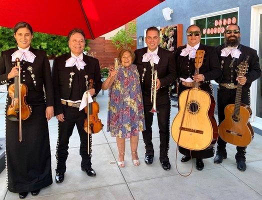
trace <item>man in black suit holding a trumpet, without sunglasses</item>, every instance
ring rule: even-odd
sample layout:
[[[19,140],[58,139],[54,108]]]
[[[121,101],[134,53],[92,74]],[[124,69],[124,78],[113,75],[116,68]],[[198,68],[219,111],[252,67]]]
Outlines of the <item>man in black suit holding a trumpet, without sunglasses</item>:
[[[153,70],[157,70],[155,104],[157,121],[160,137],[159,160],[164,170],[170,169],[168,158],[169,149],[169,120],[170,120],[170,94],[169,85],[175,81],[175,61],[173,53],[159,47],[160,36],[157,27],[149,27],[146,30],[145,42],[147,47],[136,49],[134,64],[140,75],[140,84],[143,96],[145,130],[142,131],[143,141],[145,144],[146,164],[152,164],[154,149],[152,143],[152,121],[153,113],[150,110],[153,107],[151,102],[151,86]],[[153,75],[154,76],[154,75]]]

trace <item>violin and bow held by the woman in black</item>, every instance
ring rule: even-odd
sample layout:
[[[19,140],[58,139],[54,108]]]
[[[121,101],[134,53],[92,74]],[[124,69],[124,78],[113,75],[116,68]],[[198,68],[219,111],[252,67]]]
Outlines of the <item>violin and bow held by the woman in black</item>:
[[[11,103],[7,108],[7,118],[11,121],[19,121],[19,141],[21,142],[21,120],[31,115],[31,107],[26,103],[27,86],[20,82],[20,60],[15,59],[15,66],[18,66],[18,75],[14,77],[14,83],[8,87],[8,94]]]

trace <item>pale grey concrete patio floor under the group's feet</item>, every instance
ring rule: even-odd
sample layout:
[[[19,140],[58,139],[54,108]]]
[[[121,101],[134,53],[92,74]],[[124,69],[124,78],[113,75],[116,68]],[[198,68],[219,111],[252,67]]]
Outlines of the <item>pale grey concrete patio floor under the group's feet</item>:
[[[0,93],[0,137],[4,137],[4,105],[6,93]],[[204,169],[198,171],[193,159],[193,171],[187,177],[180,176],[175,168],[176,143],[170,137],[169,159],[171,169],[164,171],[159,162],[159,134],[157,119],[153,121],[154,162],[146,165],[142,135],[138,144],[138,156],[141,164],[132,164],[129,140],[126,140],[125,167],[119,168],[115,138],[106,132],[107,91],[100,92],[96,98],[100,105],[99,118],[104,124],[103,130],[92,135],[92,168],[95,177],[89,177],[80,168],[79,136],[76,127],[69,142],[69,156],[64,181],[41,189],[33,197],[26,199],[262,199],[262,136],[255,133],[247,148],[247,169],[241,172],[236,168],[235,146],[227,144],[227,159],[221,164],[214,164],[213,157],[204,159]],[[173,102],[172,102],[173,103]],[[176,107],[171,107],[170,123]],[[49,122],[50,146],[52,155],[52,175],[55,176],[55,148],[57,140],[57,120]],[[188,173],[191,161],[180,162],[177,154],[177,168],[181,173]],[[19,199],[16,193],[7,191],[5,170],[0,173],[0,199]]]

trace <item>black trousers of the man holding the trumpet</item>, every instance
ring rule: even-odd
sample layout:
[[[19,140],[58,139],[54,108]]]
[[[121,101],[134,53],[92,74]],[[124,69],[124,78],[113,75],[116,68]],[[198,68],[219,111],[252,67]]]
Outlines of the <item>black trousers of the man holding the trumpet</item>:
[[[144,105],[144,119],[145,119],[145,130],[142,131],[143,141],[145,144],[145,155],[154,155],[153,143],[152,143],[152,122],[153,113],[150,112],[152,109],[152,103],[150,102],[149,95],[143,95],[143,105]],[[157,122],[159,128],[159,138],[160,138],[160,152],[159,160],[160,162],[169,161],[167,156],[169,149],[169,121],[170,121],[170,96],[164,94],[157,96],[156,98],[156,109]]]

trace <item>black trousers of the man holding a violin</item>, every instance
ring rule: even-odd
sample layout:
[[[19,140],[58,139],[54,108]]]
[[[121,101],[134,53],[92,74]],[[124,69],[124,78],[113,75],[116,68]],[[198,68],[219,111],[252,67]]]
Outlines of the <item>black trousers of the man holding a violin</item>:
[[[76,124],[80,137],[79,154],[82,157],[81,168],[91,167],[91,154],[87,154],[87,133],[83,129],[85,112],[79,108],[63,105],[64,121],[58,121],[58,140],[56,145],[56,172],[65,172],[65,161],[68,156],[68,143]],[[91,134],[89,134],[89,147],[91,153]]]

